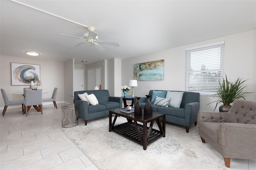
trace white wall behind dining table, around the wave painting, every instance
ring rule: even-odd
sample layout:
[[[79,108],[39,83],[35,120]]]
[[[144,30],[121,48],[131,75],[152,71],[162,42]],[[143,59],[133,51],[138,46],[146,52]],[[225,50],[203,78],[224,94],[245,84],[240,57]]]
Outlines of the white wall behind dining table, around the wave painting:
[[[12,85],[11,63],[26,63],[26,64],[40,65],[40,79],[42,81],[42,86],[40,88],[42,88],[44,92],[48,92],[46,94],[43,94],[43,97],[44,98],[52,97],[52,92],[54,87],[58,87],[56,103],[64,102],[64,63],[58,63],[54,61],[45,61],[41,59],[1,55],[0,88],[6,91],[10,100],[22,100],[23,96],[12,95],[12,93],[22,93],[23,88],[26,87],[25,85]],[[44,104],[47,104],[47,103],[44,103]],[[17,108],[21,106],[16,105],[16,106],[9,106],[9,107]],[[2,95],[0,95],[0,109],[3,109],[3,108],[4,108],[4,101],[3,101]]]

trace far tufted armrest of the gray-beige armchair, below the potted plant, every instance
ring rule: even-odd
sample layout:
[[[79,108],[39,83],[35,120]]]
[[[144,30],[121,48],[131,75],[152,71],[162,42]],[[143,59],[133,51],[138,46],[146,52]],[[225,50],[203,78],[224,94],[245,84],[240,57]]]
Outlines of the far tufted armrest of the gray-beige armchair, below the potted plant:
[[[228,113],[219,113],[219,112],[204,112],[199,111],[197,117],[197,123],[199,122],[231,122],[231,116]]]

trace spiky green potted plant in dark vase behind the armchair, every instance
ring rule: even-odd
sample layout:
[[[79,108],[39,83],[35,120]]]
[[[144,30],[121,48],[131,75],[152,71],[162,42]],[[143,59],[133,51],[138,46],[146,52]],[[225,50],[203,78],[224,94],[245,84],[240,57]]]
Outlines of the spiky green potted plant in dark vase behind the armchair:
[[[235,99],[244,98],[246,94],[252,93],[252,92],[243,92],[244,88],[247,87],[247,86],[242,86],[242,84],[245,81],[247,80],[242,81],[242,79],[238,77],[236,81],[232,82],[232,81],[228,81],[227,76],[226,76],[226,79],[222,77],[222,81],[219,82],[220,87],[217,88],[216,94],[211,95],[212,97],[219,98],[217,101],[211,102],[211,103],[216,102],[214,111],[219,103],[223,103],[223,105],[219,107],[219,111],[228,112],[231,108],[230,103],[233,103]]]

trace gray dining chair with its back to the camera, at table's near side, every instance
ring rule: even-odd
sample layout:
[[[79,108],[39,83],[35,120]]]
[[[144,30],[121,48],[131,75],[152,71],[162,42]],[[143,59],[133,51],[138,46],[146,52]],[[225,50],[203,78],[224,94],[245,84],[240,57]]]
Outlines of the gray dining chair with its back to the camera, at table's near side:
[[[32,90],[32,89],[24,89],[25,90],[25,101],[24,101],[24,113],[26,113],[26,117],[28,116],[28,106],[38,105],[41,109],[41,114],[43,114],[43,91],[42,89]]]

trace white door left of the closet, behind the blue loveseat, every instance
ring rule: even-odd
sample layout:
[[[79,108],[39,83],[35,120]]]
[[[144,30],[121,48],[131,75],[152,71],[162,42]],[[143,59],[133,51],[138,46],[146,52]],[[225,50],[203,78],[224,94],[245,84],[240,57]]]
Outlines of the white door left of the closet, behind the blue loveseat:
[[[74,91],[84,90],[84,70],[74,69]]]

